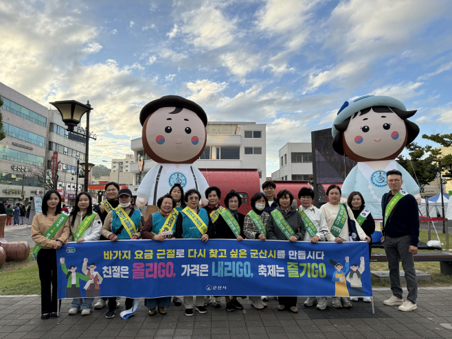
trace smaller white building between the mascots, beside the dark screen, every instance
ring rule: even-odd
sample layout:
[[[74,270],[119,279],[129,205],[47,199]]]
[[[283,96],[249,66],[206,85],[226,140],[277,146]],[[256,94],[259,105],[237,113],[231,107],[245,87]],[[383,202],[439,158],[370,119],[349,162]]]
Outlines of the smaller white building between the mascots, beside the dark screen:
[[[280,169],[271,174],[271,180],[308,181],[313,177],[311,143],[286,143],[278,154]]]

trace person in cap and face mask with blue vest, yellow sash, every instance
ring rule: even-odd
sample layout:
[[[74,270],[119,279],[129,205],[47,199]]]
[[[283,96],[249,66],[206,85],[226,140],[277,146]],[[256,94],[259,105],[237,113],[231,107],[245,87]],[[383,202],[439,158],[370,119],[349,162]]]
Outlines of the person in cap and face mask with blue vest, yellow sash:
[[[102,235],[112,242],[117,242],[118,240],[135,240],[139,239],[141,236],[141,231],[143,228],[142,213],[139,209],[135,209],[131,205],[132,192],[130,189],[121,189],[117,194],[119,197],[119,206],[113,211],[110,211],[105,218],[104,225],[102,226]],[[120,218],[119,211],[121,214],[128,215],[131,219],[133,227],[129,228],[127,224]],[[133,307],[133,299],[126,299],[126,309],[131,309]],[[106,312],[106,318],[113,318],[115,316],[116,299],[109,298],[109,312]],[[135,312],[131,314],[134,316]]]

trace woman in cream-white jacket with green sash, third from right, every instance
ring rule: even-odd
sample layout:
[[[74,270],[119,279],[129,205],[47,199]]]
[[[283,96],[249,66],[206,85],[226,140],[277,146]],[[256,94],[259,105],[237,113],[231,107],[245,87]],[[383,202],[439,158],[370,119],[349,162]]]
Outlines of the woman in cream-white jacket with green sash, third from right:
[[[354,236],[359,237],[359,239],[365,240],[366,242],[372,242],[372,239],[365,235],[363,229],[361,229],[361,226],[359,226],[359,224],[354,219],[350,207],[339,202],[341,200],[341,187],[339,187],[338,185],[330,185],[330,187],[328,187],[328,189],[326,190],[326,196],[328,196],[329,201],[326,204],[321,205],[320,211],[325,215],[326,224],[328,224],[330,233],[332,233],[332,235],[335,237],[335,242],[339,244],[341,242],[348,242],[350,241],[350,237],[353,236],[349,233],[348,218],[350,218],[350,220],[354,221],[355,223],[358,234]],[[347,215],[347,218],[345,218],[345,221],[341,223],[341,221],[344,220],[342,218],[342,215],[344,214]],[[332,299],[332,306],[336,308],[352,307],[352,303],[350,303],[350,298],[334,297]]]

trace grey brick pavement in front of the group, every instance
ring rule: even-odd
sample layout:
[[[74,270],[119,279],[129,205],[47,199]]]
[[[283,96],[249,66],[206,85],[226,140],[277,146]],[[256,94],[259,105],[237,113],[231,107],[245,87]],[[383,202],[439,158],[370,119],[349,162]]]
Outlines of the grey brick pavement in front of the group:
[[[68,316],[68,301],[59,318],[41,320],[38,296],[1,297],[0,338],[452,338],[452,289],[419,290],[418,310],[407,313],[383,305],[390,295],[389,289],[374,291],[375,314],[362,301],[351,309],[334,309],[330,301],[325,311],[300,307],[291,314],[278,312],[278,301],[271,298],[264,311],[247,300],[242,311],[208,306],[207,314],[191,317],[183,306],[169,307],[166,316],[148,316],[143,306],[128,320],[120,318],[119,309],[115,318],[106,319],[106,308]],[[299,305],[303,301],[299,298]]]

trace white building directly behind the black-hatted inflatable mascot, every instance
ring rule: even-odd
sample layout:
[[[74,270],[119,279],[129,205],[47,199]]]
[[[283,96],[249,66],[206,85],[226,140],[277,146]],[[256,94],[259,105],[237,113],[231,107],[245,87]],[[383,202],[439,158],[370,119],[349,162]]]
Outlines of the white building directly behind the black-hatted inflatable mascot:
[[[134,174],[132,190],[157,163],[143,150],[142,138],[131,141]],[[214,121],[207,123],[207,141],[203,154],[194,162],[199,169],[257,169],[261,184],[265,181],[266,125],[255,122]],[[144,160],[139,173],[139,159]],[[113,169],[113,167],[112,167]]]

